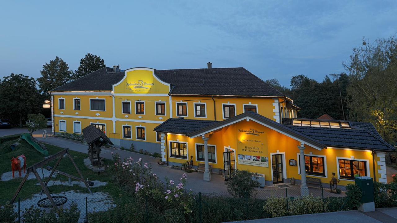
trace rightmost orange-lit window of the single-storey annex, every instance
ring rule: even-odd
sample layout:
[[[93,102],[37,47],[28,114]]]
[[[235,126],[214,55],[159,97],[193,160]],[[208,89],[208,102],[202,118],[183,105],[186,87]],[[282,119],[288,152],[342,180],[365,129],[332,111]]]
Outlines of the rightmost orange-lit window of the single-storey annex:
[[[354,179],[367,175],[366,161],[339,159],[339,177]]]

